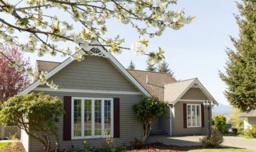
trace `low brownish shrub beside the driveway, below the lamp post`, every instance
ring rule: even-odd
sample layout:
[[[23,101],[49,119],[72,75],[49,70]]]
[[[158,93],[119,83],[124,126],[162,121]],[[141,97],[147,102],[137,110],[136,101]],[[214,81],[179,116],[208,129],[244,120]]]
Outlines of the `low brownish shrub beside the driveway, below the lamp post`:
[[[224,138],[219,130],[213,128],[211,130],[211,134],[200,138],[199,142],[201,142],[202,146],[204,147],[215,148],[220,146],[222,142],[224,142]]]

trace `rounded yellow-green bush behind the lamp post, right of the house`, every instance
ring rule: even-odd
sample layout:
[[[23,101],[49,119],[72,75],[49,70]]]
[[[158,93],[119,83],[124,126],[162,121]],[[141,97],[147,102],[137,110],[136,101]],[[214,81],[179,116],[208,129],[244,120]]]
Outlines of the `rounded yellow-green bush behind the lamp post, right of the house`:
[[[219,130],[222,134],[226,134],[229,132],[226,126],[226,117],[224,116],[224,114],[214,115],[213,126],[214,129]]]

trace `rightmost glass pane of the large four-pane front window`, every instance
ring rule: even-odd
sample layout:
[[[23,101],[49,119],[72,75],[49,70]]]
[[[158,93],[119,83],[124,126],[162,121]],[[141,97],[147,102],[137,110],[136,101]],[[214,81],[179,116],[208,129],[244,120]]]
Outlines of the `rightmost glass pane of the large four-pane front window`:
[[[111,101],[104,101],[104,130],[111,134]]]

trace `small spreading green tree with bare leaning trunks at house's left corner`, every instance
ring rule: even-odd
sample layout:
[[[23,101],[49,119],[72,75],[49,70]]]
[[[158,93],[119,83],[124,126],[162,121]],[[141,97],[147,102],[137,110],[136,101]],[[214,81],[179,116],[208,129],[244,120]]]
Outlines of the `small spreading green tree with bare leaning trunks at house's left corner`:
[[[30,137],[40,142],[47,151],[59,151],[58,122],[65,113],[60,98],[50,95],[22,94],[3,102],[0,110],[0,122],[18,126]],[[39,133],[39,134],[38,134]],[[55,150],[50,146],[50,137],[54,137]]]

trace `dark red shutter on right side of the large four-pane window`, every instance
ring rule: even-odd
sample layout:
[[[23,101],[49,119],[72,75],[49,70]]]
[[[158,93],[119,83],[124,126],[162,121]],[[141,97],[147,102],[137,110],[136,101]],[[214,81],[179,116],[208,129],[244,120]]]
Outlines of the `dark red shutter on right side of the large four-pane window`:
[[[114,138],[120,138],[120,100],[114,98]]]

